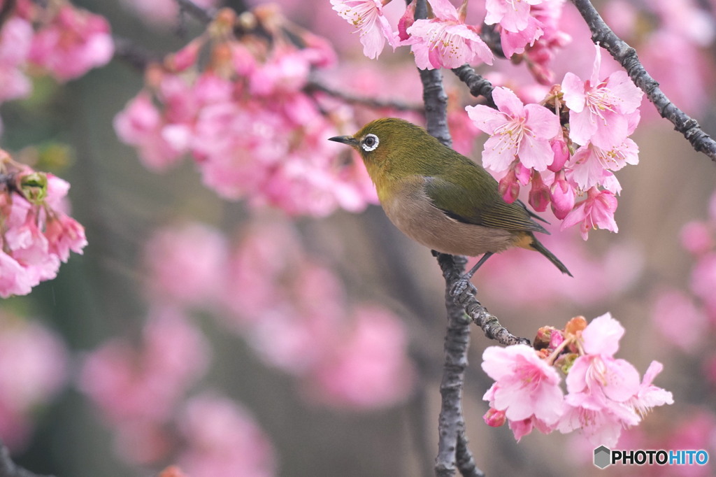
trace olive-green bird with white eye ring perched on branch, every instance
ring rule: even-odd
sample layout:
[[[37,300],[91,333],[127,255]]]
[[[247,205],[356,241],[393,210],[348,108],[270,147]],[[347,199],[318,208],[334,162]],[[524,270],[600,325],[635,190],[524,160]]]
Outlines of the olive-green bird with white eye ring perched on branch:
[[[329,140],[358,151],[385,214],[402,233],[442,254],[481,256],[453,294],[465,289],[490,256],[512,247],[538,251],[572,276],[536,238],[536,232],[549,233],[533,220],[543,219],[520,201],[506,202],[485,168],[424,128],[384,117]]]

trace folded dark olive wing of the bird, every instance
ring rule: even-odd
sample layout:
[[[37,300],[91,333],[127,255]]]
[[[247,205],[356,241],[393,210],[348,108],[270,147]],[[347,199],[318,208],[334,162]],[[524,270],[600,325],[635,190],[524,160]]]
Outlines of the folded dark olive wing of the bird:
[[[457,221],[508,231],[549,233],[532,220],[525,208],[506,203],[497,191],[480,197],[459,184],[437,177],[425,178],[424,191],[436,208]]]

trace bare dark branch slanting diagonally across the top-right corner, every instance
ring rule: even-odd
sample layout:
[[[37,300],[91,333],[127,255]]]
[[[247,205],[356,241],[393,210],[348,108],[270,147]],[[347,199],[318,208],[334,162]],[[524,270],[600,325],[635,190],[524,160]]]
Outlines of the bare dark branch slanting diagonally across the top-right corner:
[[[692,148],[704,153],[716,162],[716,141],[701,129],[697,120],[679,110],[664,95],[662,90],[659,89],[659,82],[654,80],[644,69],[642,63],[639,62],[637,51],[629,47],[624,40],[611,31],[589,0],[572,0],[572,3],[579,10],[586,24],[589,25],[592,41],[606,49],[624,67],[629,77],[632,78],[634,85],[644,91],[649,101],[654,103],[659,115],[672,122],[674,129],[682,133],[684,138],[687,138]]]

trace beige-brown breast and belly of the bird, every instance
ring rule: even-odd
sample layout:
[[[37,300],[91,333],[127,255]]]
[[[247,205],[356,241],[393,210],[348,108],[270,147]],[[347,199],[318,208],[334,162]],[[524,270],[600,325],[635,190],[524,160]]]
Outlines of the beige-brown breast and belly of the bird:
[[[488,251],[503,251],[520,240],[520,233],[464,223],[446,216],[432,205],[424,186],[425,179],[416,176],[378,191],[390,221],[420,244],[445,254],[478,256]]]

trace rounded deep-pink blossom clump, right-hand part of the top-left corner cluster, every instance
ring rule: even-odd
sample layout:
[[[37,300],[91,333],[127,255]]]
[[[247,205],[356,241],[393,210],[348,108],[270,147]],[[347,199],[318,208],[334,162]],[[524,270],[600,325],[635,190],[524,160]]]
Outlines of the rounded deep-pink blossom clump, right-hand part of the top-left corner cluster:
[[[114,42],[107,20],[67,4],[35,34],[29,60],[67,81],[103,66],[112,54]]]

